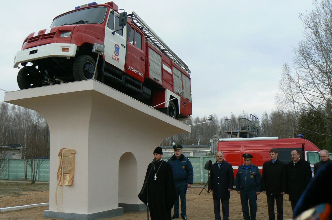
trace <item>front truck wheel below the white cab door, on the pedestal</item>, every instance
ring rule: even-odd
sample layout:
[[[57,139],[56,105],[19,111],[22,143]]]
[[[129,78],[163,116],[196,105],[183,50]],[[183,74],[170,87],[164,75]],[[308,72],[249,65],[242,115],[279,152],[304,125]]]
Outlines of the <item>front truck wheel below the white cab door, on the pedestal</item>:
[[[73,75],[75,81],[91,80],[95,72],[96,62],[89,55],[82,55],[75,59],[73,64]],[[98,70],[95,79],[97,79]]]

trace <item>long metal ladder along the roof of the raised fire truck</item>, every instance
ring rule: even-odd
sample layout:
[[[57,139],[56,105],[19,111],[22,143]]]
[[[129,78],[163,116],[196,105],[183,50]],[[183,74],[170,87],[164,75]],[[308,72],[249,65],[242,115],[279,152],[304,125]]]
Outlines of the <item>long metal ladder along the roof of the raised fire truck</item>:
[[[174,63],[176,63],[179,67],[181,67],[186,73],[191,73],[188,66],[167,46],[167,44],[158,37],[158,35],[147,26],[143,20],[138,17],[135,12],[132,12],[128,15],[128,17],[131,19],[134,24],[137,25],[138,28],[140,28],[147,36],[147,38],[150,39],[150,42],[159,50],[165,54],[168,58],[170,58]]]

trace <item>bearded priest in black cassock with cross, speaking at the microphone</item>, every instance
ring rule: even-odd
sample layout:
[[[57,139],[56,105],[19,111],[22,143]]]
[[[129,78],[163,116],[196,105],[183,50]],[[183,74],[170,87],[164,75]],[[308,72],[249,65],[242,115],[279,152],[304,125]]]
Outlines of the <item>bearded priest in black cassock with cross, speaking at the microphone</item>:
[[[163,161],[163,150],[157,147],[153,151],[155,162],[150,163],[144,182],[148,177],[145,188],[138,194],[138,198],[147,205],[151,220],[170,220],[172,217],[172,207],[176,199],[175,185],[173,181],[172,167],[167,161]],[[148,194],[147,194],[148,193]]]

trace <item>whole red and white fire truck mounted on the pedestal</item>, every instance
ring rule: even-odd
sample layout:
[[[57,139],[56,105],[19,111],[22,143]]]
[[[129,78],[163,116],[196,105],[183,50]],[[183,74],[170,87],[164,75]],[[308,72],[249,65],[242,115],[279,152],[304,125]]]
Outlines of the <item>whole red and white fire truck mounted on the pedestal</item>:
[[[14,68],[23,66],[20,89],[96,79],[187,119],[192,114],[188,66],[134,12],[119,11],[114,2],[93,2],[31,33],[14,61]]]

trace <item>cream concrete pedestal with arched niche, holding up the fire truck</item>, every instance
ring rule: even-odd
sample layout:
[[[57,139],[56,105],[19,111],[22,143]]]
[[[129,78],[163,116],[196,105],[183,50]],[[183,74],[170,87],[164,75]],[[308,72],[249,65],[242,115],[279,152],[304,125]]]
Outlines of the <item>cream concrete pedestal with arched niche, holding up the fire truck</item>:
[[[191,127],[95,80],[5,93],[5,102],[33,109],[50,130],[49,210],[44,217],[101,219],[138,212],[153,150]],[[55,206],[59,150],[73,148],[75,175]],[[61,188],[58,207],[61,207]]]

